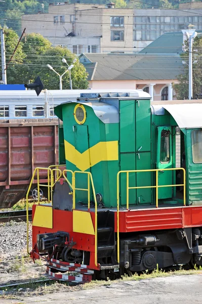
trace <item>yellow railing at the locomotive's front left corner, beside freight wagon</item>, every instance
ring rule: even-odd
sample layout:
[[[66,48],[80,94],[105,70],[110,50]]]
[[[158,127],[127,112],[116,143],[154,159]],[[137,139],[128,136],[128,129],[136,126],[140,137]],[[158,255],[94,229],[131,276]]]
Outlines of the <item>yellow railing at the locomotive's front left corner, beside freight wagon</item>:
[[[40,184],[39,183],[39,170],[43,170],[43,171],[47,171],[47,176],[48,176],[48,183],[47,184]],[[55,179],[54,182],[54,172],[56,172],[57,178]],[[28,196],[29,196],[29,192],[32,186],[32,183],[34,181],[34,177],[37,177],[37,193],[38,193],[38,199],[37,199],[37,203],[40,203],[40,186],[43,187],[48,187],[48,202],[52,203],[53,202],[53,187],[55,185],[55,183],[60,179],[60,177],[62,176],[62,171],[60,169],[51,169],[51,168],[44,168],[44,167],[37,167],[34,169],[28,190],[27,190],[27,194],[26,194],[26,219],[27,219],[27,253],[29,253],[29,211],[28,211]]]

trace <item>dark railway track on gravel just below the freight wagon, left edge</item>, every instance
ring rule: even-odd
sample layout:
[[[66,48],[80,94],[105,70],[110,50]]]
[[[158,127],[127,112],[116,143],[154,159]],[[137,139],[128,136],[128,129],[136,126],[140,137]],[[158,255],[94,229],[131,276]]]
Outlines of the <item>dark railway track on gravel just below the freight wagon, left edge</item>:
[[[28,211],[29,220],[31,220],[32,210]],[[0,212],[0,223],[14,221],[25,221],[26,220],[26,210],[17,210],[17,211],[3,211]]]

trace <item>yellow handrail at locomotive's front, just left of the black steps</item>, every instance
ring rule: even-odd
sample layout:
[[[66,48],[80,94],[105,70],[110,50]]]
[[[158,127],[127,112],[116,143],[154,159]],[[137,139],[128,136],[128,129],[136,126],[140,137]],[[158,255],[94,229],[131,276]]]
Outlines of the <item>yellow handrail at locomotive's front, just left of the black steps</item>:
[[[76,173],[82,173],[82,174],[87,174],[88,175],[88,188],[76,188],[75,187],[75,174]],[[72,189],[73,189],[73,210],[76,207],[75,203],[75,191],[80,190],[80,191],[88,191],[88,211],[90,211],[90,181],[91,181],[91,186],[93,190],[93,197],[95,201],[95,265],[97,267],[97,200],[96,200],[96,194],[95,194],[95,187],[93,183],[93,177],[91,172],[83,172],[83,171],[74,171],[73,172],[73,183],[72,183]]]

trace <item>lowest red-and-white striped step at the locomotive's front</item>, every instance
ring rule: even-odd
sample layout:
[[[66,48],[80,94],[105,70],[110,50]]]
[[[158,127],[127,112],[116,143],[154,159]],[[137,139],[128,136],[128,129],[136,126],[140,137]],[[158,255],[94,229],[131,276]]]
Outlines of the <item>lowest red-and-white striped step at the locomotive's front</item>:
[[[74,283],[87,283],[92,281],[91,275],[69,276],[66,274],[55,274],[48,267],[47,267],[47,273],[44,274],[44,276],[52,280],[67,281]]]

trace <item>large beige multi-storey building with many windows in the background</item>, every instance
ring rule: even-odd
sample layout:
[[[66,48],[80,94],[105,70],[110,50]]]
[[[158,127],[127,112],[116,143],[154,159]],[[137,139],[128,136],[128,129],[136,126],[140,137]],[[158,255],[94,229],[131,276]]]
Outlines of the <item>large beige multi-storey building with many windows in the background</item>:
[[[181,7],[182,6],[182,7]],[[26,33],[41,33],[53,46],[82,53],[137,53],[166,32],[193,24],[202,29],[202,3],[179,9],[117,9],[107,5],[57,3],[49,12],[22,16]]]

